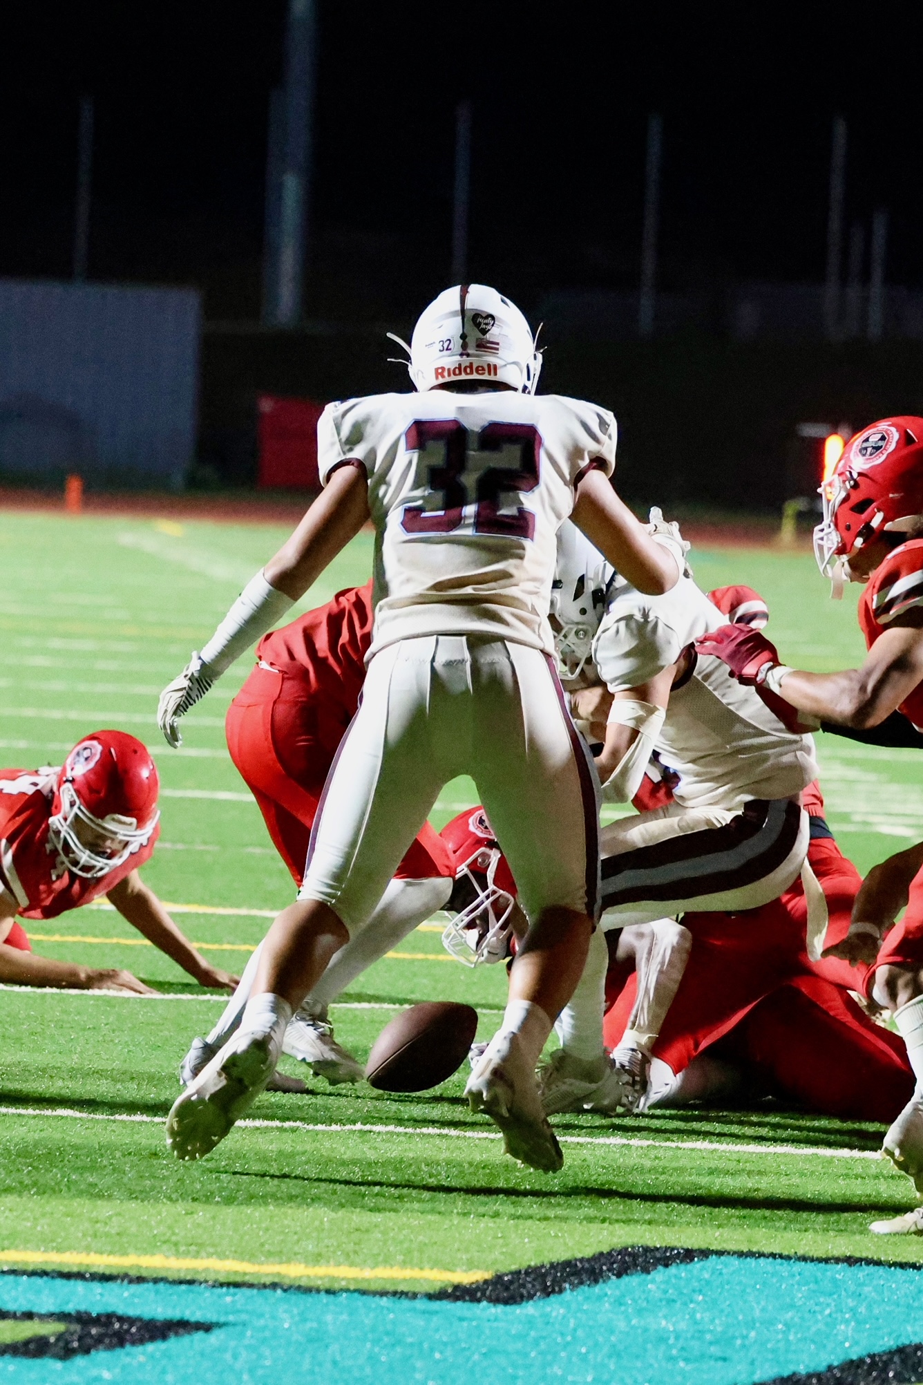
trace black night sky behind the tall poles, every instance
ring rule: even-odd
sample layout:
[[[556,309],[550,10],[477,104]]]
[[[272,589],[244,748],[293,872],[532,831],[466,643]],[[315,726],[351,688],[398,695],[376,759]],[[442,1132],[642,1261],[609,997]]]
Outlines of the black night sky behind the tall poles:
[[[837,4],[320,0],[306,313],[412,317],[450,271],[454,107],[473,102],[470,277],[529,309],[638,281],[643,138],[664,118],[661,285],[819,280],[830,120],[847,223],[891,215],[923,281],[923,11]],[[0,274],[66,277],[77,100],[95,100],[90,277],[260,302],[282,0],[4,7]]]

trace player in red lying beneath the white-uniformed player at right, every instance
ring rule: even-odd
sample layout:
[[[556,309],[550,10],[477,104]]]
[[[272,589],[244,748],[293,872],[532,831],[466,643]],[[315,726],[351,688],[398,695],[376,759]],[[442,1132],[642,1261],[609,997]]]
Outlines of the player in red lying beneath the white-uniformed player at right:
[[[861,878],[823,820],[819,791],[807,795],[810,860],[829,910],[828,936],[850,925]],[[801,881],[753,913],[689,914],[689,953],[677,983],[650,954],[613,953],[606,978],[606,1046],[627,1036],[635,986],[655,999],[657,1033],[646,1046],[641,1091],[625,1109],[724,1101],[747,1084],[841,1119],[890,1122],[906,1102],[913,1076],[901,1039],[873,1024],[850,992],[875,1004],[875,968],[812,961],[805,951],[807,902]],[[634,972],[637,971],[637,981]],[[660,996],[661,989],[664,994]]]

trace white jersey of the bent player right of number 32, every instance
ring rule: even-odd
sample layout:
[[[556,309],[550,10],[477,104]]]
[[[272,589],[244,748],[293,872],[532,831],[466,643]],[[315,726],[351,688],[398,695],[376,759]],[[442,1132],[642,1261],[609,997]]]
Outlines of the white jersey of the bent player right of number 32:
[[[691,578],[661,597],[623,583],[599,626],[594,661],[609,690],[624,691],[726,623]],[[679,776],[673,792],[684,807],[736,809],[751,798],[794,798],[819,773],[814,740],[790,731],[721,659],[700,654],[670,694],[656,749]]]

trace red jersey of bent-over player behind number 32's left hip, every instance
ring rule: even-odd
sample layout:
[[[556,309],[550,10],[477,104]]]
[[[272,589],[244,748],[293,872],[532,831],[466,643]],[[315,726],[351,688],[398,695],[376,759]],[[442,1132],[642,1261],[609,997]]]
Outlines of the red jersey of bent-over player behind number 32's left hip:
[[[260,663],[295,673],[311,692],[338,704],[350,722],[365,681],[365,655],[372,643],[372,583],[338,591],[332,601],[307,611],[281,630],[270,630],[256,647]]]

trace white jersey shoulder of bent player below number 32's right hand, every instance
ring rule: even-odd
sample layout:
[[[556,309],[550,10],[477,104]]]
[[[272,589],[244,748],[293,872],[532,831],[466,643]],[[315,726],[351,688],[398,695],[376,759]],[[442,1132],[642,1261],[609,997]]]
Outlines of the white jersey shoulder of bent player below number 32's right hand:
[[[691,578],[660,597],[617,589],[592,645],[599,676],[614,692],[648,683],[693,640],[725,623]]]

